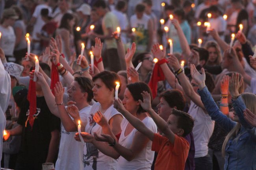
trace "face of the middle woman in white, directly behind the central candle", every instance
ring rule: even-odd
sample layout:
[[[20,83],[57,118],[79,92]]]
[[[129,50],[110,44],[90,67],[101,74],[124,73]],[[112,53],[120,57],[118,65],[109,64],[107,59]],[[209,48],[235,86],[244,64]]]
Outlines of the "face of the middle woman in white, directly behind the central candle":
[[[96,79],[94,81],[94,87],[93,87],[93,99],[95,99],[98,102],[104,101],[106,99],[109,99],[110,96],[113,96],[114,90],[109,90],[107,88],[106,84],[101,79]],[[113,97],[111,97],[113,99]]]

